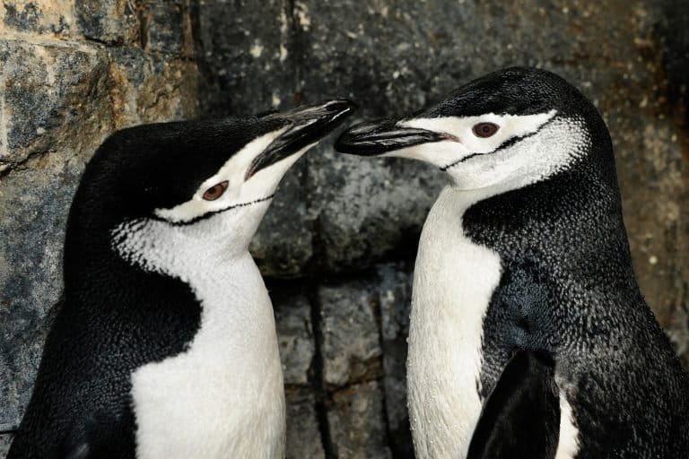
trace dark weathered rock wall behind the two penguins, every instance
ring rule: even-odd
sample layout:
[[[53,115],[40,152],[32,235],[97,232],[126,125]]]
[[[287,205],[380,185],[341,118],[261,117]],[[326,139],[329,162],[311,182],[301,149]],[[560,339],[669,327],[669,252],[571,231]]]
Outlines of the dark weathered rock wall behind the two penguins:
[[[4,0],[0,457],[60,290],[65,215],[110,132],[349,97],[402,114],[506,65],[575,82],[615,143],[641,288],[689,364],[684,0]],[[444,182],[310,152],[251,246],[275,302],[288,457],[412,457],[404,362],[415,245]]]

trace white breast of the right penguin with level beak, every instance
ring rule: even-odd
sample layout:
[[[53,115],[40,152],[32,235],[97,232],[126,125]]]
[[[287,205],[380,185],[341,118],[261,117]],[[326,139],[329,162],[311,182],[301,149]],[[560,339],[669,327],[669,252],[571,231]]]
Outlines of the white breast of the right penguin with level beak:
[[[475,193],[447,187],[428,215],[414,269],[407,359],[416,456],[465,457],[481,412],[483,319],[500,257],[464,236]]]

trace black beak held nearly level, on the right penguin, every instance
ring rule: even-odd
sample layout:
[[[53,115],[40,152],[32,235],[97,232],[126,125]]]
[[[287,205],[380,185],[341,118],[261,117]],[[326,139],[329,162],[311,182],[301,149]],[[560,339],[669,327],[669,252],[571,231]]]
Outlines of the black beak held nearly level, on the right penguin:
[[[379,156],[422,143],[449,140],[448,134],[399,126],[394,119],[361,123],[347,129],[335,143],[338,152]]]

